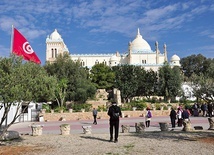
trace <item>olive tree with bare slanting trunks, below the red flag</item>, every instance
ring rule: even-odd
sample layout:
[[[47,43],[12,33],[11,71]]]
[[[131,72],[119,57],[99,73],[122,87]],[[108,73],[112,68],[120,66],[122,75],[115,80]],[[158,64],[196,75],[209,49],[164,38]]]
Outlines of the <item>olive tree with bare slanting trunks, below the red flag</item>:
[[[20,117],[23,102],[49,101],[54,96],[56,79],[49,77],[43,67],[11,56],[0,58],[0,110],[3,111],[0,128],[5,122],[2,135]],[[16,105],[16,112],[11,123],[7,124],[7,115]],[[22,109],[24,110],[24,109]],[[1,135],[1,136],[2,136]]]

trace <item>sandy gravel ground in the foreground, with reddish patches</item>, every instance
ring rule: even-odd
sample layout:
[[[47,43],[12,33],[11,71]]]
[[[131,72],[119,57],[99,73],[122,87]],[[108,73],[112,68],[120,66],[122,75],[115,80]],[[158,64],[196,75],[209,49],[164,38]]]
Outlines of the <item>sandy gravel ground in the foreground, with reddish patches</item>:
[[[120,133],[118,143],[108,140],[108,134],[22,135],[0,142],[0,155],[214,155],[214,131]]]

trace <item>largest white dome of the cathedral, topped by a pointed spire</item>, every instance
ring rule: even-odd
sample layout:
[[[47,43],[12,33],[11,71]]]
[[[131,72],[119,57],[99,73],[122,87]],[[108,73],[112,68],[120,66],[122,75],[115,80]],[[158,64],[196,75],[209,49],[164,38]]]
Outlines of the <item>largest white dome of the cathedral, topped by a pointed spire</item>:
[[[150,45],[147,43],[146,40],[143,39],[140,31],[138,29],[138,33],[136,38],[131,43],[131,50],[132,51],[151,51]]]

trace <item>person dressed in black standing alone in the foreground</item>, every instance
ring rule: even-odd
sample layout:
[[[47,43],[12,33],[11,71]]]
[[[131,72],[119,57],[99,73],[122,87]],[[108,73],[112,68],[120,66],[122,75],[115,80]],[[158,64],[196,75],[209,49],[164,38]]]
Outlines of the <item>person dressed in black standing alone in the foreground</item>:
[[[119,117],[122,117],[121,109],[117,106],[116,102],[112,102],[112,105],[109,107],[108,115],[110,116],[110,142],[113,141],[113,130],[114,130],[114,142],[118,142],[118,133],[119,133]]]

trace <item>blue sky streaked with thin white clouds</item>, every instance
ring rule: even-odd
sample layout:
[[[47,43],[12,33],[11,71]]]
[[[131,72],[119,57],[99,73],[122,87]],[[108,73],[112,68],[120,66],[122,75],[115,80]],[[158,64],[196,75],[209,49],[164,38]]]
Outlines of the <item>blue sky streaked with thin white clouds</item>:
[[[199,53],[214,58],[212,0],[1,0],[1,57],[9,56],[12,25],[42,64],[54,29],[72,54],[123,54],[139,28],[152,50],[155,41],[161,52],[166,43],[168,58]]]

